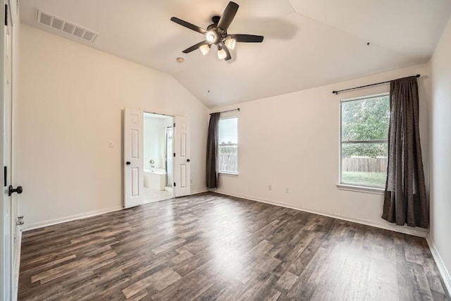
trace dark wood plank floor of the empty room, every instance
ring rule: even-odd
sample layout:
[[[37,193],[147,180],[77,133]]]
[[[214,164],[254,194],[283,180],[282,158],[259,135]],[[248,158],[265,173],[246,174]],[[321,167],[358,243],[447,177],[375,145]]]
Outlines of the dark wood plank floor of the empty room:
[[[451,300],[424,238],[204,193],[23,233],[19,300]]]

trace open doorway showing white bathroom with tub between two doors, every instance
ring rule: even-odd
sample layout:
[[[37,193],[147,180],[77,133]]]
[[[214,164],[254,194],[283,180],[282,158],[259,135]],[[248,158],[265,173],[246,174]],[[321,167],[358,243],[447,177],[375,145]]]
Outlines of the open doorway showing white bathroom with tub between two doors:
[[[171,199],[173,192],[173,116],[143,116],[144,204]]]

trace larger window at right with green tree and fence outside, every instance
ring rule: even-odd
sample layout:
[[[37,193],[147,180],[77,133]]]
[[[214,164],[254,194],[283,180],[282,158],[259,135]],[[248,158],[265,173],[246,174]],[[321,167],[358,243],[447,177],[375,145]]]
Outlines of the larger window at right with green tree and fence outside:
[[[340,184],[385,188],[388,94],[341,102]]]

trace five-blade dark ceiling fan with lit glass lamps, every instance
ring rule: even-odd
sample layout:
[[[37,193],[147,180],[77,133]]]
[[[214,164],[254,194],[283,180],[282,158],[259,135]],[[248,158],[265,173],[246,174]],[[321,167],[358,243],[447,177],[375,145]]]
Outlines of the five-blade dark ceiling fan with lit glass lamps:
[[[229,49],[235,49],[236,42],[263,42],[264,37],[261,35],[229,35],[227,33],[227,29],[230,26],[230,23],[232,23],[233,18],[235,18],[238,7],[238,4],[230,1],[223,12],[223,16],[214,16],[211,18],[213,23],[206,27],[206,30],[179,18],[172,17],[171,21],[205,35],[204,41],[183,50],[183,53],[188,54],[191,51],[199,49],[202,54],[206,55],[210,51],[211,45],[215,45],[218,48],[218,59],[228,61],[232,59]]]

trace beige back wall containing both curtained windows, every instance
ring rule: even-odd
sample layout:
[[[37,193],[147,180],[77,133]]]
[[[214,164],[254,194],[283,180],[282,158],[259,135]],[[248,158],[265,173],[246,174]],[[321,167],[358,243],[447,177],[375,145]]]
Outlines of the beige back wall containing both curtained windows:
[[[381,194],[338,190],[335,186],[339,169],[340,100],[388,92],[389,85],[338,95],[332,91],[417,73],[421,74],[420,129],[427,178],[428,66],[421,65],[237,105],[240,174],[220,176],[218,192],[426,235],[425,231],[393,226],[381,219]]]

